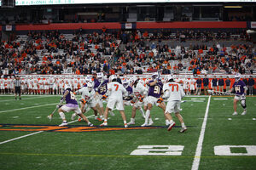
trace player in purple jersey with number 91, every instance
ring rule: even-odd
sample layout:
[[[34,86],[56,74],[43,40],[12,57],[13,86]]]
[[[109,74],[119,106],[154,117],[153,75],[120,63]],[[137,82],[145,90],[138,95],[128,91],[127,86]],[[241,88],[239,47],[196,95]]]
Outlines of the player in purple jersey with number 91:
[[[160,80],[159,74],[156,72],[152,75],[152,80],[148,83],[148,97],[146,99],[144,110],[146,111],[145,115],[145,122],[143,123],[142,127],[150,126],[154,122],[150,117],[150,111],[153,105],[159,106],[164,112],[166,111],[166,104],[164,102],[158,102],[160,95],[162,94],[163,83]]]

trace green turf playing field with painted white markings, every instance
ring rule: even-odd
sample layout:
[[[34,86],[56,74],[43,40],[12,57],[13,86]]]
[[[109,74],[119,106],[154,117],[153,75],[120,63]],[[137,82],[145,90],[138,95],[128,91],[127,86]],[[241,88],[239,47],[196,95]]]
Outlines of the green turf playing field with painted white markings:
[[[256,98],[247,97],[247,115],[232,116],[230,96],[186,97],[181,112],[188,131],[178,133],[180,123],[168,132],[163,111],[154,107],[154,125],[127,129],[117,111],[108,127],[86,113],[95,127],[70,122],[58,127],[55,109],[59,96],[0,96],[0,169],[256,169]],[[208,110],[207,110],[208,106]],[[125,106],[127,122],[131,106]],[[206,128],[202,128],[203,126]],[[31,134],[31,135],[29,135]],[[19,138],[20,137],[20,138]],[[202,145],[201,145],[202,144]],[[215,151],[214,151],[215,149]]]

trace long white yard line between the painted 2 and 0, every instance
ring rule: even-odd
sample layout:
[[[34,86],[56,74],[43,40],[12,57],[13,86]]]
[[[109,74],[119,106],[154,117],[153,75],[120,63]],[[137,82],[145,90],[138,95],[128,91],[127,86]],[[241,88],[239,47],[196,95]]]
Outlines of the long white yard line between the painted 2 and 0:
[[[198,143],[197,143],[196,150],[195,150],[194,161],[193,161],[193,165],[192,165],[192,168],[191,168],[192,170],[198,170],[198,167],[199,167],[199,164],[200,164],[201,149],[202,149],[202,144],[203,144],[203,140],[204,140],[204,136],[205,136],[205,132],[206,132],[206,127],[207,127],[207,117],[208,117],[210,102],[211,102],[211,95],[208,98],[207,110],[206,110],[205,118],[204,118],[202,126],[201,126],[201,133],[200,133],[200,137],[198,139]]]

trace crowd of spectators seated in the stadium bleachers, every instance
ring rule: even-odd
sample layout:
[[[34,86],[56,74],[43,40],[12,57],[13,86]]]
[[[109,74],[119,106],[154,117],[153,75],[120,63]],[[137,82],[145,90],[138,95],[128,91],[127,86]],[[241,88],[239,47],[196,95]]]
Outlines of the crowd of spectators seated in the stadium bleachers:
[[[108,31],[107,31],[108,32]],[[234,33],[234,32],[233,32]],[[244,31],[236,31],[243,39]],[[162,74],[179,73],[252,74],[256,54],[253,45],[240,44],[225,47],[216,41],[227,40],[231,32],[163,30],[148,33],[93,32],[83,30],[73,35],[59,31],[29,32],[25,39],[0,43],[0,76],[10,74],[143,74],[160,70]],[[172,47],[166,40],[202,40],[188,47]],[[206,41],[212,41],[207,47]],[[214,41],[213,41],[214,40]]]

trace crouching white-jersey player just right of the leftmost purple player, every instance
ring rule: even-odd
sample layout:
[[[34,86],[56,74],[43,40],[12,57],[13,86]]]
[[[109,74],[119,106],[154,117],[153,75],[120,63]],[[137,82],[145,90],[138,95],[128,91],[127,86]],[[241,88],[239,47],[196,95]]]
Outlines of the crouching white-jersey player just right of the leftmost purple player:
[[[79,90],[75,91],[74,94],[82,94],[80,100],[80,105],[81,105],[81,111],[82,113],[85,112],[86,108],[91,108],[94,111],[95,114],[95,120],[102,121],[103,116],[102,113],[100,113],[100,118],[97,116],[97,111],[96,111],[96,99],[95,95],[96,92],[93,89],[93,86],[90,82],[87,83],[87,87],[80,88]],[[72,119],[74,119],[76,115],[73,114]]]

